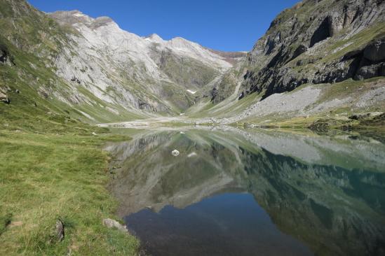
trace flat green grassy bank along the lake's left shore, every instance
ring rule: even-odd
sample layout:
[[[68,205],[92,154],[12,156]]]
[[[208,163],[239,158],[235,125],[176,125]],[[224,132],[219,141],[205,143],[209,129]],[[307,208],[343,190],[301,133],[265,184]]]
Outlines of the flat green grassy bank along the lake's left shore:
[[[1,131],[0,255],[135,255],[137,239],[102,225],[116,218],[116,201],[100,147],[116,139]],[[61,242],[56,220],[65,225]]]

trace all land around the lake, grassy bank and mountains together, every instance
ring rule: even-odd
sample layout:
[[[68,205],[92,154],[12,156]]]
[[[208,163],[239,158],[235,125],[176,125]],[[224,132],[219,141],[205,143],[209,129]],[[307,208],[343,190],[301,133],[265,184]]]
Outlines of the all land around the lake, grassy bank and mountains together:
[[[384,0],[299,1],[250,52],[138,36],[86,13],[0,0],[0,255],[141,253],[119,222],[102,222],[121,211],[106,188],[119,168],[102,145],[130,140],[112,127],[263,127],[385,141]]]

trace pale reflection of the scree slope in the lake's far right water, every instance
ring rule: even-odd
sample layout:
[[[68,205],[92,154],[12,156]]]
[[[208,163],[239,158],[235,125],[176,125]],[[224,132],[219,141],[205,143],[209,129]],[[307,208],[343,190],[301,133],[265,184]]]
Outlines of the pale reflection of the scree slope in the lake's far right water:
[[[383,172],[381,166],[384,160],[381,156],[385,156],[384,144],[372,141],[370,137],[365,136],[327,136],[305,131],[306,133],[302,133],[302,130],[293,132],[281,129],[248,129],[245,134],[255,137],[255,143],[259,143],[264,150],[276,150],[276,154],[292,157],[302,164],[339,166],[351,171]],[[271,141],[271,148],[267,144],[269,141]],[[249,148],[250,145],[255,146],[253,143],[248,144]],[[240,145],[245,147],[247,144]],[[247,148],[248,151],[255,152],[249,148]],[[299,150],[301,148],[309,148],[313,151],[311,154],[313,160],[303,156],[302,151]]]

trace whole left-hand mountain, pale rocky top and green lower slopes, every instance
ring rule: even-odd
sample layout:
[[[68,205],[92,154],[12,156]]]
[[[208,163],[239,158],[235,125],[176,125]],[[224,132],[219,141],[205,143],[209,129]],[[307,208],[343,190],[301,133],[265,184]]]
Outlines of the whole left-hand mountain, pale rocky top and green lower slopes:
[[[137,36],[109,17],[0,3],[1,61],[10,64],[1,66],[2,89],[11,105],[27,97],[91,123],[178,115],[194,104],[192,92],[232,66],[197,43]]]

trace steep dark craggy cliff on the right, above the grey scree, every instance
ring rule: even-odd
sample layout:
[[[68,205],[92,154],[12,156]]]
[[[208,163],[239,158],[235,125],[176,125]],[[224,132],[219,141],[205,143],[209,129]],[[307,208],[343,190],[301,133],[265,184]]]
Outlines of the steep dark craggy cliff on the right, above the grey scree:
[[[271,22],[238,68],[239,98],[263,92],[264,99],[306,83],[385,76],[384,20],[385,1],[381,0],[297,3]],[[215,90],[229,91],[226,86],[220,83]],[[214,97],[214,101],[224,98]]]

